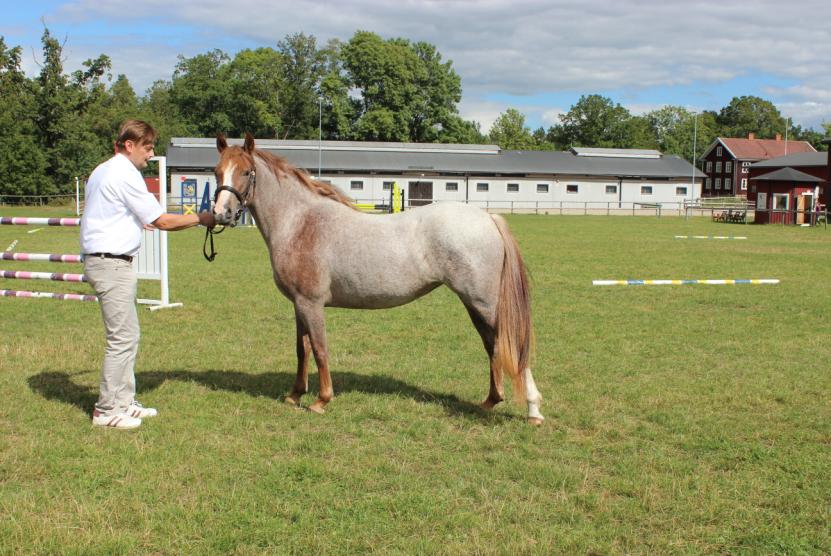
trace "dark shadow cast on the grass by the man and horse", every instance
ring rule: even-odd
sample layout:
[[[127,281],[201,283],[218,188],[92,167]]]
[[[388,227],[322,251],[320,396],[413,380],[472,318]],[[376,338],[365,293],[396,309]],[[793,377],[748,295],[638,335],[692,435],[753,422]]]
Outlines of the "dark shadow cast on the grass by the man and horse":
[[[86,373],[78,373],[86,374]],[[238,371],[145,371],[136,375],[139,393],[155,390],[168,380],[195,382],[211,390],[239,392],[252,397],[268,397],[282,401],[283,396],[294,384],[293,373],[248,374]],[[309,377],[307,398],[314,399],[318,385],[316,377]],[[404,381],[387,376],[367,376],[353,372],[339,372],[332,376],[337,395],[348,392],[363,394],[396,395],[410,398],[419,403],[431,403],[441,406],[450,415],[463,415],[480,418],[491,422],[509,420],[509,415],[485,411],[477,404],[460,400],[452,394],[440,394],[423,390]],[[29,387],[48,400],[57,400],[78,407],[88,415],[98,399],[95,387],[76,384],[72,375],[64,372],[44,371],[28,379]]]

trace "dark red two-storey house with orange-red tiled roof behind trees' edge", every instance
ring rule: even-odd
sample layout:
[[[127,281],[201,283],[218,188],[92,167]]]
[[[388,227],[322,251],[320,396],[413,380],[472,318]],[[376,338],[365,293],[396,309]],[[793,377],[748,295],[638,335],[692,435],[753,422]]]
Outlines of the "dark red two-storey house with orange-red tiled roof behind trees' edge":
[[[702,197],[747,196],[750,165],[794,153],[815,153],[807,141],[756,139],[753,133],[747,139],[716,137],[701,155],[702,169],[706,174]]]

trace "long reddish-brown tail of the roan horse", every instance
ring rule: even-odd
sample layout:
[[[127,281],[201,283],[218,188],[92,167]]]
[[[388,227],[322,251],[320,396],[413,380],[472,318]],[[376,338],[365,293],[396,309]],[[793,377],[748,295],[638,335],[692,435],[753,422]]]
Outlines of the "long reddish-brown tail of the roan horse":
[[[497,214],[491,217],[502,234],[505,249],[496,307],[497,366],[511,377],[514,401],[521,404],[526,398],[524,371],[529,367],[534,349],[530,284],[519,246],[508,229],[508,223]]]

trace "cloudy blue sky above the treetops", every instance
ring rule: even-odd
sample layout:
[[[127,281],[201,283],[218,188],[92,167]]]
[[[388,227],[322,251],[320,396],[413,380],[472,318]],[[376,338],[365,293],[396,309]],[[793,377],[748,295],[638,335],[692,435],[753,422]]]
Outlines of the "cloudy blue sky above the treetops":
[[[177,57],[276,47],[287,35],[356,31],[435,45],[462,80],[459,112],[482,131],[508,108],[531,129],[581,95],[643,114],[773,102],[803,128],[831,122],[831,0],[0,0],[0,36],[37,75],[44,24],[64,69],[107,54],[143,95]],[[783,124],[784,127],[784,124]]]

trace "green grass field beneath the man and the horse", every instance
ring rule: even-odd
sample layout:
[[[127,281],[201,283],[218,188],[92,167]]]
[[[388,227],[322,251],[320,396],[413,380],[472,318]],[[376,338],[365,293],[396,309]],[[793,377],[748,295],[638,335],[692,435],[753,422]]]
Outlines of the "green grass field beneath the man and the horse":
[[[184,308],[141,312],[139,396],[160,415],[137,431],[90,424],[97,304],[0,298],[0,553],[831,552],[831,232],[509,222],[534,285],[541,428],[512,403],[477,408],[486,358],[444,288],[327,310],[335,400],[323,416],[283,404],[293,312],[254,229],[218,236],[212,264],[200,231],[170,235]],[[78,250],[77,229],[27,230],[0,227],[0,249]],[[781,284],[591,285],[627,278]]]

